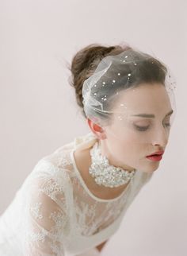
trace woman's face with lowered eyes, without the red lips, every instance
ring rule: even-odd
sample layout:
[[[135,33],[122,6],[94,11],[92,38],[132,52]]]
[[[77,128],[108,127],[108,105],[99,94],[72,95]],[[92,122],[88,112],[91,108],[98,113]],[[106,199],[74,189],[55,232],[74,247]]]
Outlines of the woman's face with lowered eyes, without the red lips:
[[[172,107],[166,88],[142,83],[121,91],[113,111],[112,123],[103,128],[106,138],[100,141],[110,165],[146,173],[158,169],[160,161],[147,156],[164,151],[168,143]]]

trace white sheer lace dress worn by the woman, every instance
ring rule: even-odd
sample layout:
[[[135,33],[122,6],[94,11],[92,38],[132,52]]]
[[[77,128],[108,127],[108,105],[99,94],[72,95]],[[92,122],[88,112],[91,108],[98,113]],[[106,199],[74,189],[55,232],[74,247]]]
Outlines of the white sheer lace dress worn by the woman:
[[[103,200],[86,187],[74,150],[89,148],[89,133],[40,159],[0,216],[0,256],[71,256],[109,239],[152,173],[136,170],[120,196]],[[86,254],[88,255],[88,254]]]

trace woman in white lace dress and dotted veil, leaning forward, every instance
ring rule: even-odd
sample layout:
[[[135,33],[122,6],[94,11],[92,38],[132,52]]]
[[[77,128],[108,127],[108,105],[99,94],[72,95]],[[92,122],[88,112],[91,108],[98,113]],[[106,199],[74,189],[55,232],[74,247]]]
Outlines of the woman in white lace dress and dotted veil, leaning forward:
[[[101,254],[166,149],[165,64],[129,46],[89,45],[71,72],[90,133],[38,161],[0,218],[0,255]]]

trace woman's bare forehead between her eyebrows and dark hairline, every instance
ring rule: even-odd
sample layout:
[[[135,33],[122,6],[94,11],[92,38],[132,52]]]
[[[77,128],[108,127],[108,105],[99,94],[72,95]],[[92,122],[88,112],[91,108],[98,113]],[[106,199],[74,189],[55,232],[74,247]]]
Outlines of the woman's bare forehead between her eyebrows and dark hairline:
[[[162,83],[142,83],[138,87],[120,91],[113,106],[113,111],[143,111],[147,114],[170,109],[170,97]]]

